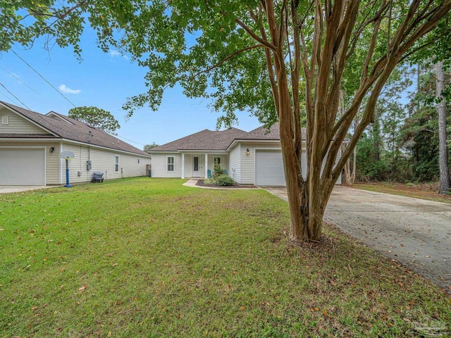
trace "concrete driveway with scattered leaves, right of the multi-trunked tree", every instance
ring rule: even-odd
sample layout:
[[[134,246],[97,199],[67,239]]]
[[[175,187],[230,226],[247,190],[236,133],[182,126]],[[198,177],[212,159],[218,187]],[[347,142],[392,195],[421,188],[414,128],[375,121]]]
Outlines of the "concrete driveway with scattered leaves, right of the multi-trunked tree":
[[[451,292],[451,204],[337,186],[324,221]]]

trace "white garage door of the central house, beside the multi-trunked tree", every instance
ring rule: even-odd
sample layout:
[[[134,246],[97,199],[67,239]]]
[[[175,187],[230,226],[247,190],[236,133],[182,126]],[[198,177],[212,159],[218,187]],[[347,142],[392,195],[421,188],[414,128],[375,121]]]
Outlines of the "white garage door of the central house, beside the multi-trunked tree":
[[[282,151],[256,149],[255,185],[285,187]]]

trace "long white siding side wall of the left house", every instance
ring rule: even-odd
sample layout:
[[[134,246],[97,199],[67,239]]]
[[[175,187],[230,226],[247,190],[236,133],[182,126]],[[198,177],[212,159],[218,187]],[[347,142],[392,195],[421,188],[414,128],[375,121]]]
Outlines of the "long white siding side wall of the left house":
[[[106,149],[85,146],[84,144],[63,143],[63,151],[73,151],[75,158],[69,162],[69,182],[89,182],[95,171],[104,173],[104,180],[121,177],[145,176],[146,165],[151,164],[148,157],[125,154]],[[90,153],[90,154],[89,154]],[[119,171],[115,171],[114,156],[119,156]],[[86,162],[90,158],[92,167],[87,170]],[[138,163],[140,158],[140,163]],[[66,161],[61,159],[63,183],[66,183]],[[80,174],[80,175],[79,175]]]

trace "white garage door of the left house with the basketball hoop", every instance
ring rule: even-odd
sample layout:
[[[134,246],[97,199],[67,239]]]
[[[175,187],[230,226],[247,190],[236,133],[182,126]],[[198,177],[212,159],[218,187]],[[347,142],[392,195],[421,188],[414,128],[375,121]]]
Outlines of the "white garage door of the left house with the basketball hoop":
[[[0,185],[45,185],[44,149],[0,148]]]

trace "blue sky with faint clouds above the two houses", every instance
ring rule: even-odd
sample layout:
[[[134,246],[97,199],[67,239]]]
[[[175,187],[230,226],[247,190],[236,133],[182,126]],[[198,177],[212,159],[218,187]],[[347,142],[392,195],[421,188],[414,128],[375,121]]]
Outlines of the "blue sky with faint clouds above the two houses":
[[[215,130],[218,113],[207,107],[208,101],[187,99],[180,87],[168,89],[159,111],[142,108],[125,121],[121,106],[126,98],[145,91],[146,69],[131,63],[128,56],[117,51],[105,54],[95,44],[93,34],[82,37],[82,58],[79,62],[71,47],[54,46],[44,49],[39,41],[31,49],[15,46],[13,50],[35,68],[75,106],[97,106],[110,111],[119,121],[118,135],[126,142],[142,149],[144,144],[164,144],[200,130]],[[73,108],[50,84],[11,51],[0,56],[0,82],[32,111],[56,111],[68,114]],[[4,87],[0,87],[0,100],[23,106]],[[23,106],[23,108],[26,108]],[[259,127],[257,118],[238,112],[242,130]]]

